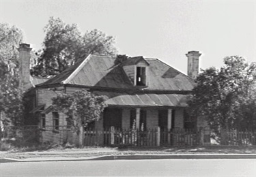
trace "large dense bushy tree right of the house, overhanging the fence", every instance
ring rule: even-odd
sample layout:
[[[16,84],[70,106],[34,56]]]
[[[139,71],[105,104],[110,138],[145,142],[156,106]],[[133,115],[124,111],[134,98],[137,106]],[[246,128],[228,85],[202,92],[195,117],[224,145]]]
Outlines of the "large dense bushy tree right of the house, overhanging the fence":
[[[256,63],[242,57],[224,59],[221,69],[210,67],[199,74],[188,102],[194,116],[205,116],[212,129],[256,128]]]

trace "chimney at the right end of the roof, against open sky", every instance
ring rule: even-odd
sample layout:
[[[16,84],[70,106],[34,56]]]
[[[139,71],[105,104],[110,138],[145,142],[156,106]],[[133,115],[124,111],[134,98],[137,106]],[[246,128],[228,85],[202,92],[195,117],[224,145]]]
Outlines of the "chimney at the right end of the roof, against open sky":
[[[199,57],[201,53],[199,51],[190,51],[186,54],[188,57],[188,76],[190,78],[197,78],[199,74]]]

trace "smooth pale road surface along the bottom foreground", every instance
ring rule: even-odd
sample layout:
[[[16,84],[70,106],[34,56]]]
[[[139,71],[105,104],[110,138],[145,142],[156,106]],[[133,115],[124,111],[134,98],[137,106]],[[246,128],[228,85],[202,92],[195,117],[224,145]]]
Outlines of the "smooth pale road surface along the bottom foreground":
[[[256,176],[256,159],[0,163],[0,176]]]

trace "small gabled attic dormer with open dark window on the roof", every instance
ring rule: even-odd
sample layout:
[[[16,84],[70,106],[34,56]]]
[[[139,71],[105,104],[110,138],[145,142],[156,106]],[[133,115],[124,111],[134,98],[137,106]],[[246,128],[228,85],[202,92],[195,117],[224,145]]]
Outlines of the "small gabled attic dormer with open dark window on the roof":
[[[141,57],[132,57],[122,63],[126,75],[134,86],[147,86],[148,66],[150,64]]]

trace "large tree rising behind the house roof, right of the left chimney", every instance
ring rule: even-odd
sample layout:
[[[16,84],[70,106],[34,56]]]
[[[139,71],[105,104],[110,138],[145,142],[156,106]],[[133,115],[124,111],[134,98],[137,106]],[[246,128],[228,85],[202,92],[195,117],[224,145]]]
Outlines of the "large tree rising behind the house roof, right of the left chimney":
[[[76,24],[68,25],[60,18],[51,17],[44,33],[43,50],[32,69],[34,76],[55,76],[89,54],[114,55],[117,52],[112,36],[97,29],[81,33]]]

